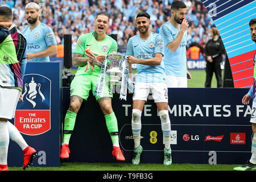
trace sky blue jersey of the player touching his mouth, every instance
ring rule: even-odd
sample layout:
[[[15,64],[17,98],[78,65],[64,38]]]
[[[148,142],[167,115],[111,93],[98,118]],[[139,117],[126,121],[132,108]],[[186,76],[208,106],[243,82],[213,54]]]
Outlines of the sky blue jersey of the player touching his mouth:
[[[168,49],[167,44],[171,43],[176,39],[177,34],[179,33],[180,28],[175,28],[169,21],[164,23],[160,27],[159,34],[163,37],[164,40],[164,68],[166,75],[174,76],[187,76],[187,34],[185,31],[183,38],[181,40],[180,46],[175,52],[171,52]]]

